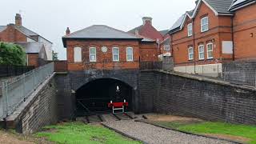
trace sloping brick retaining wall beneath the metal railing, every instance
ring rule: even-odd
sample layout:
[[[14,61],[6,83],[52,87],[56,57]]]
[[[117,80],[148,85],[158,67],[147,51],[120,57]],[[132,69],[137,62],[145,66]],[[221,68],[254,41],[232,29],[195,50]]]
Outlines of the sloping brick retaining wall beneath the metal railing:
[[[18,110],[6,118],[7,128],[22,134],[31,134],[58,121],[56,82],[54,74],[48,78]]]

